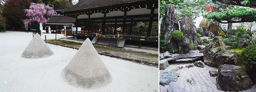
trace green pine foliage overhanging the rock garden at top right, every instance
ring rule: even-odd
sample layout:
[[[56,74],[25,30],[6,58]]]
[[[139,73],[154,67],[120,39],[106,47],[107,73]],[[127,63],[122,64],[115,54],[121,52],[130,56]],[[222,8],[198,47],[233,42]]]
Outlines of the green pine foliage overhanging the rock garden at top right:
[[[203,16],[208,19],[215,19],[219,23],[239,23],[256,21],[255,0],[213,0],[227,5],[246,6],[236,9],[226,9],[215,13],[206,13]],[[248,7],[248,8],[247,8]],[[250,8],[251,7],[251,8]]]

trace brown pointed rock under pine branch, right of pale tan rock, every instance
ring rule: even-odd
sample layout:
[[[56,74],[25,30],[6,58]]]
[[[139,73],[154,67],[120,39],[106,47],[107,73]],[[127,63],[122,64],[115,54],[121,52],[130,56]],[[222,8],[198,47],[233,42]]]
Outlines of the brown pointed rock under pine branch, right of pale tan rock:
[[[218,30],[217,30],[217,25],[214,22],[210,22],[209,25],[207,26],[205,35],[209,36],[209,33],[213,33],[214,36],[218,36]]]

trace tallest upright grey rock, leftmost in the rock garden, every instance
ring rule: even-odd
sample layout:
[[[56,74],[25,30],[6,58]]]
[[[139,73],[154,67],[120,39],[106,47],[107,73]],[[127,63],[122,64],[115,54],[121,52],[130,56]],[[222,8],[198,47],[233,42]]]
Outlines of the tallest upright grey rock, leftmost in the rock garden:
[[[168,4],[165,10],[165,17],[162,19],[160,28],[160,33],[162,35],[161,40],[167,41],[166,51],[172,53],[174,49],[178,49],[178,43],[174,40],[172,32],[179,30],[179,26],[174,22],[177,18],[174,6],[172,4]]]

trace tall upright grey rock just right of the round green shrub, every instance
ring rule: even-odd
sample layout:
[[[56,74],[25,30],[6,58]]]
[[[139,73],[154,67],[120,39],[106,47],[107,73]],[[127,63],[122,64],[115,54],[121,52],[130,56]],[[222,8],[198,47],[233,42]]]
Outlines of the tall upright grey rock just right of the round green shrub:
[[[196,26],[192,23],[191,19],[188,16],[182,17],[180,21],[180,27],[181,27],[180,28],[181,32],[183,32],[184,34],[184,39],[182,40],[182,43],[188,43],[190,44],[190,46],[197,47],[198,42],[197,42]]]

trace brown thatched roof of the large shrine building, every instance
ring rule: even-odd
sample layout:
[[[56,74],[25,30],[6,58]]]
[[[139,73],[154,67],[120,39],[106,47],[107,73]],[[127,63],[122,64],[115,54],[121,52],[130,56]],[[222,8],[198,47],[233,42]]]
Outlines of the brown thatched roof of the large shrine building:
[[[125,5],[126,3],[141,2],[149,0],[79,0],[79,2],[67,9],[57,10],[57,12],[71,12],[78,10],[89,10],[98,7],[112,7],[117,5]],[[152,0],[151,0],[152,1]]]

